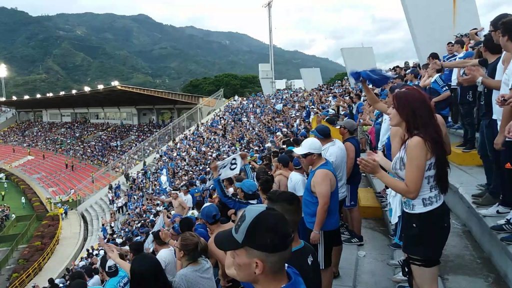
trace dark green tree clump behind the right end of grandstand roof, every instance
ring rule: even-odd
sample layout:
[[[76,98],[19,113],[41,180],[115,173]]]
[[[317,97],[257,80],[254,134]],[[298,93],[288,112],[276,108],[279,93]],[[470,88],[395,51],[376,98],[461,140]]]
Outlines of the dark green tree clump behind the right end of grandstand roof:
[[[234,95],[245,96],[262,90],[258,75],[223,73],[214,77],[192,79],[181,88],[181,91],[188,94],[209,96],[221,88],[224,88],[224,98],[230,98]]]

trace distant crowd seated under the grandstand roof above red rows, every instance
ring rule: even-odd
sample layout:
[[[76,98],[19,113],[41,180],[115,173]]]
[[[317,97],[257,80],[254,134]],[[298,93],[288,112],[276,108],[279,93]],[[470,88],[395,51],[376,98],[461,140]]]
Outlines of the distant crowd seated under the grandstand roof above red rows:
[[[91,123],[88,120],[20,121],[0,131],[0,142],[67,154],[105,166],[120,158],[164,126]]]

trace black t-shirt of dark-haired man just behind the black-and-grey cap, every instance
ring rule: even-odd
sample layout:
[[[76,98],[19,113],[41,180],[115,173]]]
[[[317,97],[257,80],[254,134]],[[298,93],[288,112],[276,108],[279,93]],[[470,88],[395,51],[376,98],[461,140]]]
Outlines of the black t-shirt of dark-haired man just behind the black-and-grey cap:
[[[316,252],[311,245],[302,240],[301,242],[301,245],[292,250],[290,259],[286,263],[301,274],[306,288],[322,287],[320,264],[318,264]]]

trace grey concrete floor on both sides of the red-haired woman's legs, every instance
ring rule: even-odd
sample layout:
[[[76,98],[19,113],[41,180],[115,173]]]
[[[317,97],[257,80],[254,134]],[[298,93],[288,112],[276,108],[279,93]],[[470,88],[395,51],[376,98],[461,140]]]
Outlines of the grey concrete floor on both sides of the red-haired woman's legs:
[[[441,259],[441,278],[445,288],[507,288],[501,276],[484,254],[471,233],[452,214],[452,231]],[[334,280],[334,288],[394,288],[391,281],[394,269],[386,263],[393,251],[388,247],[390,238],[382,219],[362,222],[364,246],[344,245],[339,265],[341,277]],[[364,257],[357,256],[364,251]]]

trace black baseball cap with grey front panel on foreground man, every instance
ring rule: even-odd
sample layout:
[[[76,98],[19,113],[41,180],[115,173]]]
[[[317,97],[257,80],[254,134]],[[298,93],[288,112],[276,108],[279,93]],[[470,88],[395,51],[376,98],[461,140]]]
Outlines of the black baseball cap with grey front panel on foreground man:
[[[221,251],[244,247],[263,253],[290,249],[293,233],[283,213],[265,204],[249,205],[231,229],[217,233],[214,243]]]

